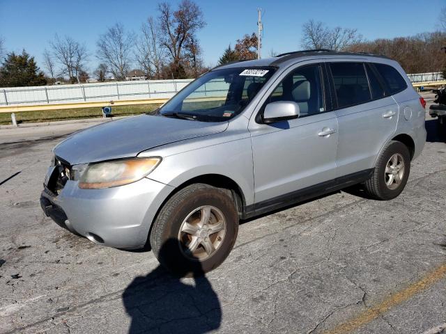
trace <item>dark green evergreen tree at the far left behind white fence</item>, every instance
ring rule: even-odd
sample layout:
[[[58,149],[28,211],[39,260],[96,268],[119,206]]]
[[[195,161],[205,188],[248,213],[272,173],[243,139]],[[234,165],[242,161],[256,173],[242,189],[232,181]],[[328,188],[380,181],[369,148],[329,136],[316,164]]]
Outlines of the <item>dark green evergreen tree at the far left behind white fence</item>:
[[[37,66],[34,57],[25,50],[22,54],[11,52],[6,55],[0,68],[0,87],[43,86],[47,79]]]

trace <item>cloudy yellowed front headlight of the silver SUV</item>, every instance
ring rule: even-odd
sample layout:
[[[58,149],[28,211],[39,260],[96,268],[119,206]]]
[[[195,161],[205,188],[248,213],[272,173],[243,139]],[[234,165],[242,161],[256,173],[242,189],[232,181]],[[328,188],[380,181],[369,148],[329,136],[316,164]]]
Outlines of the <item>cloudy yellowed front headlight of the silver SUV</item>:
[[[134,158],[89,165],[79,180],[81,189],[102,189],[123,186],[141,180],[151,173],[161,158]]]

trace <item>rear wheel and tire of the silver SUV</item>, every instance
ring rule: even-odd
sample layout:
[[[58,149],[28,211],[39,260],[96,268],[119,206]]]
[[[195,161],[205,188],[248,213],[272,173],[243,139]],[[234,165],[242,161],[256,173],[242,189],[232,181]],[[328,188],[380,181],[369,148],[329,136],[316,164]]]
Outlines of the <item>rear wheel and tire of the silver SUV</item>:
[[[395,157],[397,160],[395,160]],[[390,161],[390,159],[393,159]],[[386,166],[388,171],[393,170],[394,161],[403,164],[403,173],[401,174],[401,167],[395,175],[386,173]],[[398,169],[398,168],[397,168]],[[364,182],[366,193],[376,200],[392,200],[399,196],[406,186],[410,173],[410,152],[406,145],[400,141],[390,141],[385,145],[383,151],[376,161],[374,173],[369,180]],[[392,180],[390,180],[392,178]]]

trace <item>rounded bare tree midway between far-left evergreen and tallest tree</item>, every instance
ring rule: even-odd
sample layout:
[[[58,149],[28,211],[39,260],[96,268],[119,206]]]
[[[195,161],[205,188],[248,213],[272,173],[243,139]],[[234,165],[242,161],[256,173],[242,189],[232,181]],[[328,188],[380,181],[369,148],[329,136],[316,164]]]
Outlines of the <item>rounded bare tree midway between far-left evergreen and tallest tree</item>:
[[[130,70],[134,35],[125,32],[123,24],[116,23],[100,35],[96,45],[96,56],[107,64],[117,80],[123,80]]]

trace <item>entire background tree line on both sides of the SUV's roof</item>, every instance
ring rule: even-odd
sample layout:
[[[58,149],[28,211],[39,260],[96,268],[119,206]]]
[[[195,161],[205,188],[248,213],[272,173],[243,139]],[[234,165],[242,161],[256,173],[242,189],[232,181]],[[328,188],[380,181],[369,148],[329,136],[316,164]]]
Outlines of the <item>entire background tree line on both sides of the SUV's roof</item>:
[[[398,61],[408,73],[437,72],[446,68],[446,9],[439,17],[439,29],[410,37],[365,40],[357,29],[329,27],[313,19],[302,25],[302,49],[333,49],[383,54]],[[6,52],[0,38],[0,86],[39,86],[54,81],[72,84],[86,82],[93,76],[98,81],[123,80],[136,68],[146,79],[185,79],[199,77],[209,70],[203,64],[202,49],[197,38],[206,26],[201,8],[192,0],[183,0],[173,8],[159,3],[157,16],[148,17],[137,33],[121,23],[107,28],[91,53],[82,42],[70,36],[54,35],[43,52],[40,70],[34,57]],[[224,49],[218,63],[257,58],[256,33],[245,34]],[[289,51],[289,50],[284,50]],[[275,56],[270,51],[270,56]],[[89,73],[92,57],[100,62]]]

